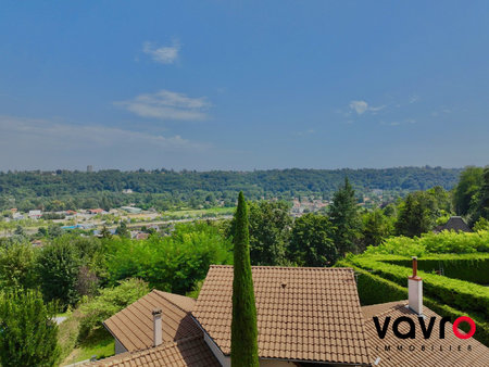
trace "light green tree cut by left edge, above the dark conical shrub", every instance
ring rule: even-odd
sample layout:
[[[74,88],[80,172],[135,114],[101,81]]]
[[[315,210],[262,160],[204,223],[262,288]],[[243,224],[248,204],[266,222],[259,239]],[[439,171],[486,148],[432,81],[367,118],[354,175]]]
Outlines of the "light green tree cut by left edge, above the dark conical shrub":
[[[0,248],[0,288],[35,287],[35,250],[28,242]]]

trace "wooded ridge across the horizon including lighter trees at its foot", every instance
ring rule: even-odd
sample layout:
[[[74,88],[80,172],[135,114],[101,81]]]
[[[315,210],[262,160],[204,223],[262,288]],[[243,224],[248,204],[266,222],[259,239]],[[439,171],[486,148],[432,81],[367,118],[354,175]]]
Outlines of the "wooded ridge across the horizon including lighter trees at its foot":
[[[434,186],[451,189],[461,170],[426,166],[254,172],[9,172],[0,173],[0,210],[108,210],[129,202],[159,210],[181,203],[198,206],[224,202],[224,205],[234,206],[239,191],[243,191],[249,200],[289,200],[309,194],[329,199],[344,177],[349,177],[352,186],[361,193],[373,189],[409,192]],[[131,190],[133,193],[124,194],[124,190]]]

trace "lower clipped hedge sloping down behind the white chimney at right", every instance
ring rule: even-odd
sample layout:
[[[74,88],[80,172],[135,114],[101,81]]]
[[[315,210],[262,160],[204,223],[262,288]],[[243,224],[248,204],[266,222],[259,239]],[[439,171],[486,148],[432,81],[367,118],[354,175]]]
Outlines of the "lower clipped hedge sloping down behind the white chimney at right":
[[[354,266],[348,261],[339,261],[335,266],[352,267],[355,270],[358,276],[359,298],[361,304],[364,306],[408,300],[406,286],[401,287],[396,282],[386,280],[368,270]],[[426,307],[441,317],[450,317],[452,322],[460,316],[469,316],[476,324],[477,330],[474,338],[489,346],[489,322],[485,321],[480,314],[461,312],[448,305],[440,304],[427,296],[423,298],[423,303]]]

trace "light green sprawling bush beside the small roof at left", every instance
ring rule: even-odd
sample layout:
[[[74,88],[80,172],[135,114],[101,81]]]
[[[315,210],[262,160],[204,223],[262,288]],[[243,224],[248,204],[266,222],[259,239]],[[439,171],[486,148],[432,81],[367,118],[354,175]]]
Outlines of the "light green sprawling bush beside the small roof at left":
[[[100,295],[79,307],[79,340],[103,328],[102,322],[149,292],[148,283],[140,279],[123,280],[118,287],[105,288]]]

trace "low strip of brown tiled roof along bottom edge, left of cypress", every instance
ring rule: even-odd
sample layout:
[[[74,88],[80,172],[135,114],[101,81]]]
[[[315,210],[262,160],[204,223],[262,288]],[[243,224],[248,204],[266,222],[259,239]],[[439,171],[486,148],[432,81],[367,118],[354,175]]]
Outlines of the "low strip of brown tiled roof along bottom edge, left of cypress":
[[[164,343],[156,347],[133,353],[123,353],[114,357],[99,360],[92,366],[133,367],[133,366],[168,366],[168,367],[220,367],[202,337],[191,337],[177,342]]]

